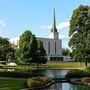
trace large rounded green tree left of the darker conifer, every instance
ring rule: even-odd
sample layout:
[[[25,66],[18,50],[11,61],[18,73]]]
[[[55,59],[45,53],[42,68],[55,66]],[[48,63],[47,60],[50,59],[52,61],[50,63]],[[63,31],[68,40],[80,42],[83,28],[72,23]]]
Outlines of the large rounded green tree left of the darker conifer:
[[[17,63],[32,63],[32,59],[37,51],[37,41],[29,30],[26,30],[19,40],[19,48],[16,51]]]

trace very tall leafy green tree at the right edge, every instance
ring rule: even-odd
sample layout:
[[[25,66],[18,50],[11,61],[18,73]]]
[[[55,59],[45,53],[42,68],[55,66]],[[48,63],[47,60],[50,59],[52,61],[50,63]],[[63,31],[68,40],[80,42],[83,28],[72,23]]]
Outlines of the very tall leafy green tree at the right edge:
[[[87,65],[90,60],[90,6],[80,5],[73,11],[69,36],[73,58]]]

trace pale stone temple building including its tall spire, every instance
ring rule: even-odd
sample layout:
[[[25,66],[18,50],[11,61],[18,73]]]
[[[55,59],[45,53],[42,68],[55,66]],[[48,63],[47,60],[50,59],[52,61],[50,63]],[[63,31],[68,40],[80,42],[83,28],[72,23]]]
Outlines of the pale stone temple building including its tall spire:
[[[17,39],[17,41],[15,41]],[[55,8],[53,8],[53,25],[48,38],[37,37],[37,40],[43,42],[43,46],[46,50],[48,61],[66,61],[67,58],[62,56],[62,40],[59,39],[59,33],[56,27]],[[19,37],[11,38],[10,42],[18,45]]]

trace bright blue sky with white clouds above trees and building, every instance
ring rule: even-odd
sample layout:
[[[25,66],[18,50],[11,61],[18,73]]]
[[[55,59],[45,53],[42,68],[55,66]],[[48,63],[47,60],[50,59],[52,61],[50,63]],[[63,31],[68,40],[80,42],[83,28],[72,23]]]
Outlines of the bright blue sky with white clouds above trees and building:
[[[18,37],[28,29],[36,37],[48,38],[54,6],[59,38],[68,48],[69,21],[79,5],[90,5],[90,0],[0,0],[0,36]]]

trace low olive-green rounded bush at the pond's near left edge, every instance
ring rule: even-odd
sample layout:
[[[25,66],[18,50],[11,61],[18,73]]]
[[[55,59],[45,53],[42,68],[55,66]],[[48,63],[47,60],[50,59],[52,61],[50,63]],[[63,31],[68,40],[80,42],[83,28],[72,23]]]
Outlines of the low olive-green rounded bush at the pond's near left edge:
[[[33,77],[29,78],[27,81],[28,87],[39,87],[42,85],[46,85],[50,82],[49,77],[43,76],[43,77]]]

